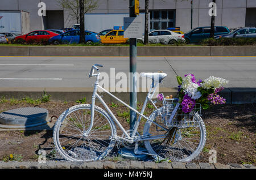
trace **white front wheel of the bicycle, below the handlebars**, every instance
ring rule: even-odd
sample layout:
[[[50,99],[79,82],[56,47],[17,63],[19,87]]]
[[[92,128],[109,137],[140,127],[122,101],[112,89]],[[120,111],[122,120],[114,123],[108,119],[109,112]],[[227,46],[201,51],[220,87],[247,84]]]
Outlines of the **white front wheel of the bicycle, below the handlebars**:
[[[104,158],[113,149],[116,130],[109,114],[94,106],[93,127],[91,105],[72,106],[58,118],[53,141],[57,151],[68,161],[96,161]]]

